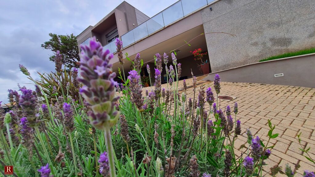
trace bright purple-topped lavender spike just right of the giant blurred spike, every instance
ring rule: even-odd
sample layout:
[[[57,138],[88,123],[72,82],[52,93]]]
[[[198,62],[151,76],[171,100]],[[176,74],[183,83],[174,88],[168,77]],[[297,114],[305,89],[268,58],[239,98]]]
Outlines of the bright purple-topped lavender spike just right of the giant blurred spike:
[[[139,110],[141,110],[143,105],[142,93],[141,93],[141,85],[139,84],[140,76],[138,72],[132,70],[129,72],[128,79],[130,80],[129,88],[132,93],[132,100],[136,104]]]

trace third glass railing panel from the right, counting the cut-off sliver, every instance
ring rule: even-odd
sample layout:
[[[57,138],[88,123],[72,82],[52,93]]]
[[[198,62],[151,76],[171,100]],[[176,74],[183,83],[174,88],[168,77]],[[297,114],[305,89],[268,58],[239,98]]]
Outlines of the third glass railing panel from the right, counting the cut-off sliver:
[[[181,2],[173,4],[168,9],[165,9],[163,12],[164,25],[167,26],[172,22],[180,19],[184,16],[183,9],[181,7]]]

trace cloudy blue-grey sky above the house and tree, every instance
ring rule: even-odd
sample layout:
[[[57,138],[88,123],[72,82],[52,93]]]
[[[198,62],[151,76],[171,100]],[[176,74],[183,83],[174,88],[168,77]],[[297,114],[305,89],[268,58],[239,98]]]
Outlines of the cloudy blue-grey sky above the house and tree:
[[[149,17],[177,0],[126,0]],[[93,2],[93,3],[91,3]],[[2,1],[0,6],[0,101],[8,103],[7,90],[21,86],[34,88],[19,71],[23,64],[33,78],[38,72],[54,70],[49,61],[51,51],[41,44],[48,34],[80,34],[89,25],[94,26],[122,0],[14,0]]]

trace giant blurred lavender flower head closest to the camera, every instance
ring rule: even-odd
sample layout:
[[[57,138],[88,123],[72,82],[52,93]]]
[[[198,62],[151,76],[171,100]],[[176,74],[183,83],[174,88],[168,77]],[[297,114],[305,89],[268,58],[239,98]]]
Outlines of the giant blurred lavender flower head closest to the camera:
[[[93,110],[88,113],[90,123],[104,130],[114,126],[119,117],[119,112],[114,110],[119,99],[115,97],[116,82],[113,80],[116,73],[112,72],[112,64],[109,64],[113,54],[109,50],[104,51],[95,37],[89,45],[80,47],[84,54],[80,60],[81,77],[77,77],[77,80],[85,86],[79,91]]]

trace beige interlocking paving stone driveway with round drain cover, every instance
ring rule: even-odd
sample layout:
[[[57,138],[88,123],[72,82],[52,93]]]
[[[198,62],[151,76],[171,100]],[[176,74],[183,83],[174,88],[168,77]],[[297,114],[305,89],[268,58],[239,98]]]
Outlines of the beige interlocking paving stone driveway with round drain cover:
[[[198,90],[203,84],[205,88],[213,88],[213,82],[202,81],[203,77],[198,77],[198,88],[195,98],[198,97]],[[187,87],[192,86],[192,79],[186,79]],[[162,87],[166,88],[166,84]],[[179,88],[182,87],[182,81],[179,81]],[[145,94],[145,92],[143,92]],[[214,93],[215,94],[215,93]],[[234,102],[238,102],[238,115],[242,123],[242,136],[238,136],[235,142],[235,153],[240,155],[243,148],[247,147],[246,129],[249,128],[253,135],[261,137],[266,144],[269,127],[267,120],[271,120],[276,125],[275,133],[279,136],[271,140],[270,146],[272,155],[265,162],[265,176],[270,176],[270,168],[280,166],[283,168],[286,163],[291,165],[292,170],[296,169],[296,176],[302,176],[305,169],[315,171],[315,165],[308,161],[299,148],[301,148],[296,137],[301,134],[302,147],[311,147],[309,155],[315,159],[315,89],[258,84],[258,83],[229,83],[221,82],[221,95],[232,96],[230,101],[221,100],[221,109],[224,110],[227,105],[233,110]],[[187,98],[193,97],[192,88],[187,89]],[[216,98],[216,94],[215,94]],[[209,105],[206,107],[209,110]],[[268,146],[269,146],[268,145]],[[276,176],[286,176],[276,174]]]

